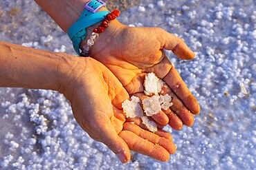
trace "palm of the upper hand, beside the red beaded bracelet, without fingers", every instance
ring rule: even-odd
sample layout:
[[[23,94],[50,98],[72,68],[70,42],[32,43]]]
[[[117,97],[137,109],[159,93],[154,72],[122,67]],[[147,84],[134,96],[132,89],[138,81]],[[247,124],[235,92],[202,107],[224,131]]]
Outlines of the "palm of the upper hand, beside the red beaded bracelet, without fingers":
[[[116,75],[129,94],[143,92],[146,73],[154,72],[163,78],[172,67],[163,51],[164,44],[160,43],[163,37],[154,36],[154,32],[161,31],[159,28],[125,28],[111,42],[99,40],[91,55]]]

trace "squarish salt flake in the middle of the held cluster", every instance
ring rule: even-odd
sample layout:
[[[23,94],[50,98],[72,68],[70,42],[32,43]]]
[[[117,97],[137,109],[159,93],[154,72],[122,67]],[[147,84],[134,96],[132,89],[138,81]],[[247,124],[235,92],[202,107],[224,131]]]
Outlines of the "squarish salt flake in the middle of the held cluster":
[[[158,114],[161,111],[159,98],[160,96],[152,96],[143,99],[143,109],[147,116]]]

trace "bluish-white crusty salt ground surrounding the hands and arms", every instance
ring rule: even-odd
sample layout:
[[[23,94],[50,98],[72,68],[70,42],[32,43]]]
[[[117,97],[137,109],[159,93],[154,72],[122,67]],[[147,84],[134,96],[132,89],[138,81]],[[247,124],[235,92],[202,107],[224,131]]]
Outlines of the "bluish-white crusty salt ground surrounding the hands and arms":
[[[1,0],[0,6],[1,41],[74,54],[68,37],[33,1]],[[134,153],[120,164],[75,123],[64,96],[1,88],[0,169],[255,169],[255,9],[254,0],[141,0],[122,12],[122,23],[160,26],[197,54],[180,61],[167,52],[201,103],[192,128],[166,128],[177,146],[169,162]]]

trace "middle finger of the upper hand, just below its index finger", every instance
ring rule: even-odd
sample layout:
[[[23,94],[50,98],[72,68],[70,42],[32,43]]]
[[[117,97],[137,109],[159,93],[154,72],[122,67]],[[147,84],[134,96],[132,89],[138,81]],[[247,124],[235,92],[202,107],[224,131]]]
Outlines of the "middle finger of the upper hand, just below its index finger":
[[[163,89],[163,94],[169,94],[173,98],[172,99],[173,105],[170,107],[170,109],[174,111],[174,113],[177,116],[179,116],[179,118],[181,119],[184,125],[188,127],[192,127],[192,125],[194,124],[194,116],[192,115],[192,113],[187,109],[187,107],[185,107],[185,105],[183,105],[181,100],[179,100],[179,98],[172,92],[170,87],[168,87],[167,85],[164,85],[162,89]]]

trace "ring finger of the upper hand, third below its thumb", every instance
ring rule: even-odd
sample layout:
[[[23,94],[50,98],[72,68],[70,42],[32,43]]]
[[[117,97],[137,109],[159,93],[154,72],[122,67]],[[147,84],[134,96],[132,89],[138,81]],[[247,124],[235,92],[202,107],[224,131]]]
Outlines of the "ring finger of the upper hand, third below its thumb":
[[[168,116],[169,118],[168,124],[170,125],[170,127],[172,127],[172,129],[175,129],[178,131],[182,129],[183,123],[179,118],[179,116],[174,114],[174,112],[170,108],[168,108],[167,110],[163,110],[163,112],[165,112],[165,114]]]

